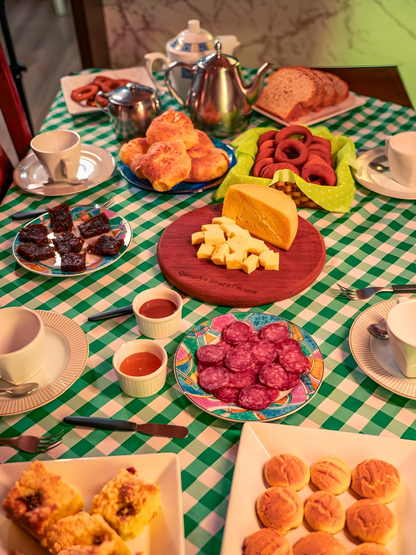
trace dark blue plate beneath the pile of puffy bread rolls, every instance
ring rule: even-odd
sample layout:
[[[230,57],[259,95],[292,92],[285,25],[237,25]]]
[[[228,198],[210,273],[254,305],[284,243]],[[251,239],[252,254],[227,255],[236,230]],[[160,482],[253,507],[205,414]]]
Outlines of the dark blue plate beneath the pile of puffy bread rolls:
[[[225,152],[228,154],[230,160],[229,169],[231,169],[232,166],[236,164],[234,149],[230,147],[230,145],[222,143],[218,139],[211,138],[211,140],[214,143],[215,148],[222,148],[222,150],[225,150]],[[131,171],[129,166],[123,164],[123,162],[120,162],[119,169],[124,179],[130,181],[132,185],[135,185],[140,189],[145,189],[146,191],[151,191],[152,193],[158,193],[160,195],[184,195],[209,191],[211,189],[215,189],[215,187],[222,183],[225,176],[227,175],[227,172],[225,172],[225,174],[221,175],[221,177],[219,178],[211,179],[211,181],[199,181],[198,183],[193,183],[192,181],[181,181],[181,183],[178,183],[169,191],[155,191],[155,189],[151,186],[150,181],[148,181],[147,179],[139,178],[135,173],[133,173],[133,171]]]

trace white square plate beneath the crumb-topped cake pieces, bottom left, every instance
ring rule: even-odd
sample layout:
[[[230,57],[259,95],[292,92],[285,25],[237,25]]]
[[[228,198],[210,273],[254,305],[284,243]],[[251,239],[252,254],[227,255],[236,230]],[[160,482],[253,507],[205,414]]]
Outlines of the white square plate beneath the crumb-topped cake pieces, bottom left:
[[[132,553],[143,552],[143,555],[185,555],[180,462],[175,453],[60,459],[43,463],[79,487],[86,511],[90,509],[95,493],[98,493],[120,468],[134,466],[145,482],[160,486],[162,510],[146,526],[143,534],[126,542],[127,546]],[[30,464],[11,462],[1,465],[1,503],[8,490]],[[0,555],[7,555],[9,549],[17,549],[25,555],[45,555],[45,550],[32,537],[6,518],[3,507],[0,509],[0,530]]]

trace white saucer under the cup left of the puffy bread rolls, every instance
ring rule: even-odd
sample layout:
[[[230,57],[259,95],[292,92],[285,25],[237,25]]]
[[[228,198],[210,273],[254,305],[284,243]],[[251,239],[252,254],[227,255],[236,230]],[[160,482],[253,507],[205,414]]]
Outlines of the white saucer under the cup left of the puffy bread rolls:
[[[103,183],[113,173],[114,166],[113,155],[107,150],[83,143],[81,145],[81,159],[77,179],[88,180],[82,185],[63,183],[39,187],[40,183],[48,180],[48,175],[33,152],[19,162],[17,168],[13,171],[13,180],[18,187],[34,195],[74,195]]]

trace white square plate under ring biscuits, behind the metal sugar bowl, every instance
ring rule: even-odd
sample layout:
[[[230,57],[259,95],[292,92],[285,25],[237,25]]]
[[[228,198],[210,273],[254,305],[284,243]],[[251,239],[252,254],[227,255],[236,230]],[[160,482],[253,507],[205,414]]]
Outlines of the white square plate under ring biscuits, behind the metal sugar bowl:
[[[149,72],[146,68],[125,68],[125,69],[104,69],[97,73],[80,73],[79,75],[67,75],[67,77],[60,78],[60,86],[64,95],[65,103],[67,104],[68,112],[72,115],[89,114],[91,112],[100,112],[100,108],[94,108],[80,102],[75,102],[71,98],[71,93],[74,89],[85,87],[93,82],[98,75],[105,75],[111,79],[129,79],[134,83],[145,85],[155,89],[155,84],[150,78]]]

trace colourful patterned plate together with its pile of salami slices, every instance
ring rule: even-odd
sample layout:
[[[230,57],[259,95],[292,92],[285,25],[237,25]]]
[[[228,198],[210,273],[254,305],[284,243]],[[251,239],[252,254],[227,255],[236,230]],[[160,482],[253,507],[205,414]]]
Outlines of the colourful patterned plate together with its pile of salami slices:
[[[190,330],[174,370],[182,391],[203,411],[224,420],[270,421],[310,401],[323,379],[323,358],[293,322],[233,312]]]

